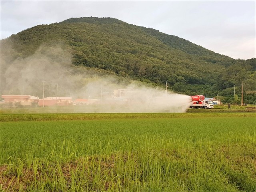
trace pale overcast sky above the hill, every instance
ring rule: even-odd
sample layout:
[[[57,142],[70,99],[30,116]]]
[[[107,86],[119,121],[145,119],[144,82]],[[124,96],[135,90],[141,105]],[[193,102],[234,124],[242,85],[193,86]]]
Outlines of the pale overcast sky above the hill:
[[[112,17],[175,35],[235,59],[256,57],[256,1],[0,0],[7,38],[38,24]]]

